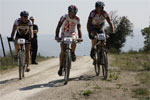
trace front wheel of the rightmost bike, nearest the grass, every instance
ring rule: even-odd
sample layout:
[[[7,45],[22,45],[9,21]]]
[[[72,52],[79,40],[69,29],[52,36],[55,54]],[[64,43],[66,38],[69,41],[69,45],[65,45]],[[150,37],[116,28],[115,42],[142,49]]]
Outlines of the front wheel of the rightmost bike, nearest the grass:
[[[105,51],[103,52],[103,60],[104,60],[104,64],[102,64],[102,70],[103,70],[104,79],[106,80],[108,76],[108,59],[107,59],[107,53]]]

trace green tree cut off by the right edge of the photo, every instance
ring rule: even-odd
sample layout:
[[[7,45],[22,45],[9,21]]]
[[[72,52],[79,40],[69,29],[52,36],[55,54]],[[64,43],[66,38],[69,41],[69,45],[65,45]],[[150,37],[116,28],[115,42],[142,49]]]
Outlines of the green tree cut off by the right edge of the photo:
[[[150,51],[150,26],[142,29],[141,32],[145,38],[143,50],[148,52]]]

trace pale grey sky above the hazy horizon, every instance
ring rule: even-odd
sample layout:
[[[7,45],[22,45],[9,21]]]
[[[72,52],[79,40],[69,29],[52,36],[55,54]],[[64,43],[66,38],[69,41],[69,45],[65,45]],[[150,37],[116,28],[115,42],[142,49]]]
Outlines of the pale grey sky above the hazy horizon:
[[[39,35],[55,34],[60,17],[67,13],[69,5],[76,5],[82,33],[87,34],[86,23],[97,0],[0,0],[0,33],[10,36],[15,19],[26,10],[35,18]],[[103,0],[105,10],[117,11],[118,16],[127,16],[135,29],[143,29],[150,23],[150,0]]]

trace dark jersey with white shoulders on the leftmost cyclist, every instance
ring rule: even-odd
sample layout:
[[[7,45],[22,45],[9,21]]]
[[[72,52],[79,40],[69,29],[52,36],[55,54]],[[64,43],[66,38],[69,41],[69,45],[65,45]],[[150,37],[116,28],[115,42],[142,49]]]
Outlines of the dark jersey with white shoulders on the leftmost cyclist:
[[[17,32],[20,35],[25,35],[29,32],[29,27],[32,25],[30,20],[27,22],[22,22],[20,18],[16,19],[14,25],[17,26]]]

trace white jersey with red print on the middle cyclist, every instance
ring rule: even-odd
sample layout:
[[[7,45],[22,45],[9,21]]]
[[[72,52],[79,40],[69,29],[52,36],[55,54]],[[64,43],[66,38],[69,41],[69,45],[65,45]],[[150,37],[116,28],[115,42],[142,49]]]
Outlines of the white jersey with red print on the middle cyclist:
[[[61,17],[60,22],[62,22],[62,34],[61,37],[72,36],[72,33],[75,32],[75,28],[78,24],[80,24],[79,17],[75,17],[74,19],[70,19],[69,15],[66,14]]]

